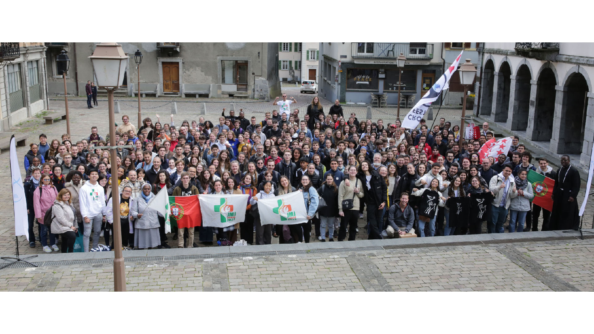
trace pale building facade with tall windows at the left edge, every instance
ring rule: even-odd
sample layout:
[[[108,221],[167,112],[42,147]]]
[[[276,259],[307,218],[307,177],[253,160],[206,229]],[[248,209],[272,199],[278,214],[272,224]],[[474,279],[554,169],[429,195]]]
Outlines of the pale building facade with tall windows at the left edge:
[[[45,52],[42,42],[1,43],[0,131],[48,109]]]

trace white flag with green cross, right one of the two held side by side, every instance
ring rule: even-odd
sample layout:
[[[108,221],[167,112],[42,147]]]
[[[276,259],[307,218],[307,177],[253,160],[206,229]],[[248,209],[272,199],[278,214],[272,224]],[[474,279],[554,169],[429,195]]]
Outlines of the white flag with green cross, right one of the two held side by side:
[[[307,222],[307,210],[301,191],[258,200],[262,225],[293,225]]]

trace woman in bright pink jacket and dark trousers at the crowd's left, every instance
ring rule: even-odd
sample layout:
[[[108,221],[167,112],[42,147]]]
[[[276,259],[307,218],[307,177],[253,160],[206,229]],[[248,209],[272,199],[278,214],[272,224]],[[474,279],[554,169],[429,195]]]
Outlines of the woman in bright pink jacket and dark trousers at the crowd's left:
[[[43,218],[49,207],[53,205],[53,201],[58,197],[58,191],[52,184],[52,177],[49,174],[43,173],[40,178],[39,186],[33,192],[33,208],[35,212],[35,218],[39,225],[39,239],[43,246],[45,253],[52,253],[53,251],[59,251],[56,240],[56,235],[49,232],[49,243],[52,245],[48,246],[48,226],[43,225]]]

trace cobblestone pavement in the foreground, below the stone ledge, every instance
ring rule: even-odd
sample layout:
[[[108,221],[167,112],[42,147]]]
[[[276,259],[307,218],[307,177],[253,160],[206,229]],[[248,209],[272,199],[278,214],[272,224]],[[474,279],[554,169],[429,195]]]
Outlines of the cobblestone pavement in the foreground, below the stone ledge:
[[[128,291],[593,291],[594,240],[126,263]],[[1,291],[111,291],[111,263],[0,271]]]

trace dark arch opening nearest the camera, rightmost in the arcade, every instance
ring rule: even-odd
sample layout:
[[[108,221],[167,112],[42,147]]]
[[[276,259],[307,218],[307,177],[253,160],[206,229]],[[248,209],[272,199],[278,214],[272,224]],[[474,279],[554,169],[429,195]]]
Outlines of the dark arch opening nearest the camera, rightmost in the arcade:
[[[589,82],[579,69],[569,73],[563,83],[561,124],[557,153],[579,154],[582,152],[586,124],[587,93]]]

